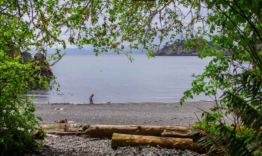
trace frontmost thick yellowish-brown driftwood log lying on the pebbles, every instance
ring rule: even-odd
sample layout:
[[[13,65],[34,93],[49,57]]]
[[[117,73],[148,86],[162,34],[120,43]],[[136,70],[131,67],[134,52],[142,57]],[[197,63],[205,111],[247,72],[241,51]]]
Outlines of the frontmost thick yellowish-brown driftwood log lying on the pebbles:
[[[111,147],[118,146],[156,146],[162,148],[188,149],[203,153],[204,150],[192,139],[167,138],[158,136],[139,136],[114,133],[112,136]]]

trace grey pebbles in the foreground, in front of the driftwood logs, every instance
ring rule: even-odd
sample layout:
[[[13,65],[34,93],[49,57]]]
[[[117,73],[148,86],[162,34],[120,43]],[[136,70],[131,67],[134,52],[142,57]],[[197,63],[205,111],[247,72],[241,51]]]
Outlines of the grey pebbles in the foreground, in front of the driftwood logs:
[[[78,136],[46,137],[42,149],[36,149],[32,156],[74,156],[74,155],[122,155],[122,156],[200,156],[193,151],[151,146],[118,147],[111,149],[111,140],[83,138]],[[30,154],[28,154],[30,155]]]

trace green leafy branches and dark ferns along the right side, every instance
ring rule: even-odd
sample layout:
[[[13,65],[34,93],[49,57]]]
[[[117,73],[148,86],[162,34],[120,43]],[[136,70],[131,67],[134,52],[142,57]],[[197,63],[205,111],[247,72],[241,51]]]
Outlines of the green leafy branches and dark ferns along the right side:
[[[207,25],[189,33],[189,44],[199,44],[194,40],[199,41],[208,35],[211,41],[230,53],[223,56],[222,50],[201,50],[202,58],[211,53],[216,57],[203,74],[193,75],[196,79],[192,88],[184,93],[181,104],[185,99],[193,98],[193,94],[200,93],[214,100],[214,107],[211,112],[205,112],[202,121],[205,128],[201,126],[201,129],[207,131],[207,135],[199,140],[200,144],[210,147],[210,154],[261,155],[262,4],[257,0],[206,0],[204,4],[196,5],[197,12],[207,8],[209,14],[196,16]],[[205,30],[207,27],[209,33]],[[223,93],[219,95],[218,90]],[[234,127],[227,126],[227,121]]]

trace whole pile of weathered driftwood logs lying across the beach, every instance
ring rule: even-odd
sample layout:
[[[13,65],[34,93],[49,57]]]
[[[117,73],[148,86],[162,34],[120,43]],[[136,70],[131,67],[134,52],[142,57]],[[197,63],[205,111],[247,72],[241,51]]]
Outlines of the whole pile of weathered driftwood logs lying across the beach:
[[[193,126],[145,126],[145,125],[39,125],[55,136],[76,135],[83,137],[110,138],[111,147],[150,145],[158,148],[178,148],[205,152],[195,141],[199,134],[190,135]]]

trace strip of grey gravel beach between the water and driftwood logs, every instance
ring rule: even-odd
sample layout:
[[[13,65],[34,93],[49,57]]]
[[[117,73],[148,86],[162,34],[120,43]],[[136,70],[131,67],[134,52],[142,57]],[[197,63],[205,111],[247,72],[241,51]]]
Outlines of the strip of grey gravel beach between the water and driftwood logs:
[[[36,104],[35,115],[43,121],[39,124],[54,124],[55,121],[74,121],[81,124],[108,125],[179,125],[188,126],[202,121],[202,110],[209,111],[213,101],[185,102],[127,102],[102,104]],[[55,109],[63,110],[55,110]],[[198,109],[200,108],[200,109]],[[197,115],[197,116],[196,116]]]

